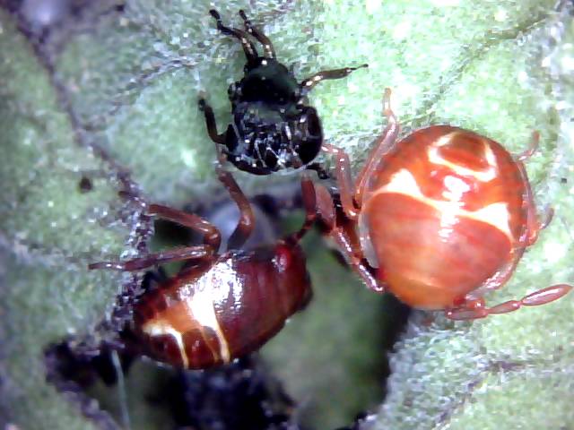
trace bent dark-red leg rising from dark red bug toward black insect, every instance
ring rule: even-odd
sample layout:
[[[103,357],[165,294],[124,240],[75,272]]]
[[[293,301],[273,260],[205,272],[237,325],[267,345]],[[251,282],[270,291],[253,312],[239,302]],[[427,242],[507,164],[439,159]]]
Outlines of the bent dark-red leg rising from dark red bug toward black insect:
[[[233,199],[239,208],[239,222],[227,242],[229,249],[238,249],[245,244],[251,235],[255,227],[255,216],[253,215],[251,204],[249,204],[247,197],[241,191],[230,172],[224,170],[221,166],[217,166],[215,171],[223,186],[225,186],[230,193],[231,199]]]

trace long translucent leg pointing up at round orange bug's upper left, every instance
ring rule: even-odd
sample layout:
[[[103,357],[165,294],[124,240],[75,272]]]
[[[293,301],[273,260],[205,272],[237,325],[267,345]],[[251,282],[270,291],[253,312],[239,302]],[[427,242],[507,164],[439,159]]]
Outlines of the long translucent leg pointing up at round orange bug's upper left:
[[[369,178],[380,168],[385,155],[395,147],[396,137],[400,131],[400,125],[391,108],[390,88],[385,89],[383,96],[383,116],[387,116],[387,127],[375,140],[374,148],[370,151],[369,157],[367,157],[368,161],[361,168],[361,172],[355,181],[354,198],[359,207],[362,205],[362,196],[367,188]]]

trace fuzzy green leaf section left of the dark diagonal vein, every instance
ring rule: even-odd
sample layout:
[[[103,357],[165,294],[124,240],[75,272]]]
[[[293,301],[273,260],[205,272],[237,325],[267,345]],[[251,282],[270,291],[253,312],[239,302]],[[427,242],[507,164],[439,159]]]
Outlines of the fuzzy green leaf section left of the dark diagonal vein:
[[[89,255],[121,252],[127,231],[106,220],[117,198],[109,167],[76,145],[47,70],[3,11],[0,52],[0,417],[22,428],[91,428],[46,383],[43,349],[109,309],[118,283],[86,266]],[[90,193],[79,186],[84,174],[94,176]]]

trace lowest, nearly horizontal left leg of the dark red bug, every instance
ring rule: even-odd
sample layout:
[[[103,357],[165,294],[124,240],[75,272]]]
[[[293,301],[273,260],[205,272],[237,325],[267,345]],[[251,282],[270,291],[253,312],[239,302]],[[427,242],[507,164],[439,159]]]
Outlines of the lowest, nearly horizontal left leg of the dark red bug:
[[[162,262],[180,262],[183,260],[203,260],[213,255],[210,245],[187,246],[170,249],[157,254],[147,254],[126,262],[92,262],[88,269],[109,269],[112,271],[141,271]]]

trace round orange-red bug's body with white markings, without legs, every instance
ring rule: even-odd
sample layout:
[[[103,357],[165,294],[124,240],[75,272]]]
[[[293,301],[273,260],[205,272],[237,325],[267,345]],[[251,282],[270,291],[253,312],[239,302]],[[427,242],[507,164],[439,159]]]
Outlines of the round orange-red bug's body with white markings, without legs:
[[[381,280],[408,305],[442,309],[513,258],[525,188],[499,143],[448,125],[396,144],[361,209]]]

